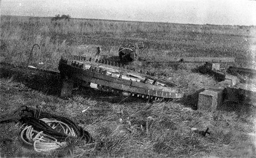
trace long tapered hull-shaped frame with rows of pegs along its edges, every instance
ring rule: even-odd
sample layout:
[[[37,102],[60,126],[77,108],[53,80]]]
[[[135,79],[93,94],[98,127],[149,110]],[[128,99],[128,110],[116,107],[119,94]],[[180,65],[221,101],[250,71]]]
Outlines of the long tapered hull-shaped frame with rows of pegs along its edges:
[[[83,56],[61,57],[59,71],[62,77],[102,91],[137,96],[147,99],[180,99],[183,93],[172,82],[124,69],[121,63],[108,60],[92,61]]]

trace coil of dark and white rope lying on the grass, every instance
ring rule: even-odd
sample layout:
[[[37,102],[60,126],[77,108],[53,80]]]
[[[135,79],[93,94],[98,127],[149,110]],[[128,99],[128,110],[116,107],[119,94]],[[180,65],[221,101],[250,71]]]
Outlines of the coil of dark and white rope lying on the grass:
[[[42,112],[38,109],[23,106],[14,111],[15,115],[5,115],[2,122],[18,121],[23,125],[20,138],[25,144],[33,145],[34,150],[42,153],[51,153],[54,150],[74,146],[83,140],[93,142],[88,131],[82,129],[72,120]],[[18,116],[17,116],[18,115]]]

